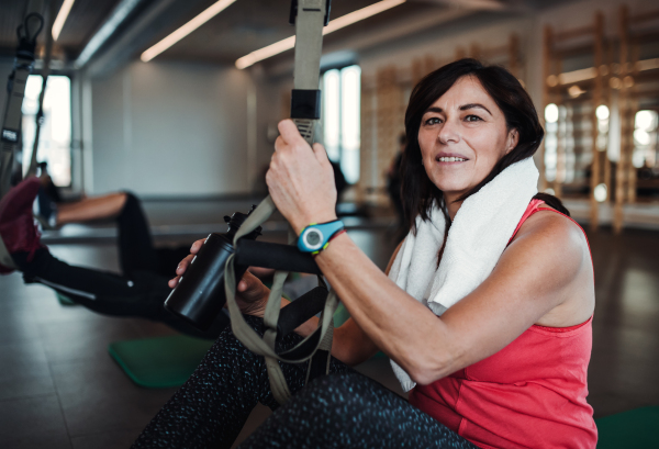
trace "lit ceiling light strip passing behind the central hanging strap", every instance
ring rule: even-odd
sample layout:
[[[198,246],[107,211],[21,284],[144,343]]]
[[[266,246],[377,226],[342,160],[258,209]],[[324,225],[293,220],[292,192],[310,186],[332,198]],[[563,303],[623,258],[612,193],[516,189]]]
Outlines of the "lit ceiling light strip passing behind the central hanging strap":
[[[323,29],[323,35],[333,33],[337,30],[340,30],[345,26],[351,25],[364,19],[368,19],[372,15],[379,14],[380,12],[387,11],[393,7],[398,7],[399,4],[404,3],[404,2],[405,2],[405,0],[382,0],[377,3],[371,4],[369,7],[350,12],[346,15],[342,15],[340,18],[330,21],[327,26],[325,26]],[[247,68],[260,60],[264,60],[264,59],[267,59],[275,55],[278,55],[280,53],[283,53],[287,49],[291,49],[294,46],[295,46],[295,36],[287,37],[283,41],[276,42],[272,45],[268,45],[267,47],[257,49],[246,56],[243,56],[242,58],[236,60],[236,67],[239,69]]]

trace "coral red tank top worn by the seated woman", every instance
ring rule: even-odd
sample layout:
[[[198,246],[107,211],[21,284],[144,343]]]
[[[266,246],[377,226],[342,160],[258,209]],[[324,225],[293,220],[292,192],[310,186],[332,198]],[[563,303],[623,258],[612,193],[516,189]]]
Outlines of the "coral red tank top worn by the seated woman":
[[[560,213],[540,204],[529,203],[513,237],[534,213]],[[572,327],[533,325],[487,359],[416,385],[410,403],[481,448],[595,448],[585,401],[591,349],[592,317]]]

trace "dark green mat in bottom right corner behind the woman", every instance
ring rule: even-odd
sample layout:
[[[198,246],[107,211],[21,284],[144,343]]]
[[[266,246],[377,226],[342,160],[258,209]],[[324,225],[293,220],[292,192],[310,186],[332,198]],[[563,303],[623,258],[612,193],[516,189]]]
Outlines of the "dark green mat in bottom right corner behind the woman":
[[[597,449],[659,448],[659,406],[636,408],[595,419]]]

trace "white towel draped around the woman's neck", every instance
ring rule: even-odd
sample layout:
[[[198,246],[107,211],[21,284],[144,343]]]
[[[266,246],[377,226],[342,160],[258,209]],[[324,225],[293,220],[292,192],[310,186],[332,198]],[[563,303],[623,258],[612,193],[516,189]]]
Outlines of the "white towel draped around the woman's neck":
[[[410,233],[405,237],[389,278],[437,316],[442,315],[490,276],[538,191],[538,176],[529,157],[507,167],[465,200],[448,231],[439,268],[444,214],[435,206],[429,221],[416,217],[416,235]],[[415,383],[410,375],[393,360],[391,366],[403,390],[413,389]]]

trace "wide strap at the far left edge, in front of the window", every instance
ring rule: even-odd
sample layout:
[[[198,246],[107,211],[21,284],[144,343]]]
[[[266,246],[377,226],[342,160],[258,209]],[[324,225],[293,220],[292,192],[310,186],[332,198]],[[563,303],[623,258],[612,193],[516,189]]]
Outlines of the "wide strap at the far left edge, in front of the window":
[[[7,106],[0,136],[0,198],[3,198],[11,189],[14,157],[21,141],[21,108],[25,96],[25,85],[34,66],[36,36],[43,27],[43,16],[32,12],[25,16],[25,20],[16,30],[19,47],[14,67],[7,85]]]

